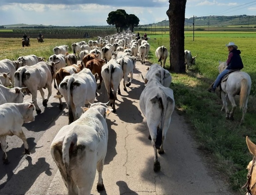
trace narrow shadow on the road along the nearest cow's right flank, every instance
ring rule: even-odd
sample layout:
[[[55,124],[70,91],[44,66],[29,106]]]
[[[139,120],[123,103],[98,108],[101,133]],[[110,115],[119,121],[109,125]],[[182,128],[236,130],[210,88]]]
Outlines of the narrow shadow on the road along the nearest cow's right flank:
[[[114,157],[117,155],[116,152],[116,132],[111,128],[111,125],[117,125],[114,122],[111,122],[109,119],[106,119],[107,125],[108,125],[108,146],[107,146],[107,154],[105,157],[104,165],[109,164],[111,161],[113,161]]]

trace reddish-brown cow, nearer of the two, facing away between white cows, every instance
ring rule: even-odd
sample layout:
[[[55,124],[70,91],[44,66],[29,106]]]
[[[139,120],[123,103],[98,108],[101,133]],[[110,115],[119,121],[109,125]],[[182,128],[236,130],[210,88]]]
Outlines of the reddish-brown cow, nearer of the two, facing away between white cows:
[[[99,75],[99,86],[98,89],[101,88],[102,76],[101,76],[101,68],[105,64],[105,60],[102,59],[93,59],[86,63],[85,68],[90,69],[92,74],[98,73]]]

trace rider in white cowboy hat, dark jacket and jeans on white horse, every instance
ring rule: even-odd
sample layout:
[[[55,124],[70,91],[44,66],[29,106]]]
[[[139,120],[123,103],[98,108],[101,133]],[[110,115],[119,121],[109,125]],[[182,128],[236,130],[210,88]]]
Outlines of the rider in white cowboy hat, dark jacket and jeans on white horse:
[[[221,79],[225,74],[227,74],[231,70],[241,70],[244,68],[243,62],[241,59],[241,51],[238,50],[237,45],[235,45],[234,42],[229,42],[226,44],[226,47],[228,49],[228,59],[227,59],[227,68],[223,70],[214,81],[214,84],[208,89],[209,92],[215,92],[216,87],[219,85]]]

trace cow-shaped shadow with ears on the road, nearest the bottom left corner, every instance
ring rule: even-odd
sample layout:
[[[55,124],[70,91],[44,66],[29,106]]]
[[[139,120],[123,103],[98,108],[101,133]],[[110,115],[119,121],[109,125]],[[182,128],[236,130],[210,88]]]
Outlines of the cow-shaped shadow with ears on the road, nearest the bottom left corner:
[[[17,194],[26,194],[41,173],[45,172],[48,176],[52,175],[50,164],[46,162],[45,158],[39,158],[35,164],[32,163],[30,156],[27,156],[26,160],[28,166],[13,175]],[[8,191],[12,191],[12,189],[8,189],[8,186],[6,188]]]

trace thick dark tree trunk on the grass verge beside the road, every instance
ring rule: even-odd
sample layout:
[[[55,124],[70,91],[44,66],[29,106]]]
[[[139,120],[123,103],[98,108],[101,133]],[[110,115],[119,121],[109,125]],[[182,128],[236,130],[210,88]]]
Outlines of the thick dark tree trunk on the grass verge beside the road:
[[[170,70],[185,73],[184,63],[184,23],[187,0],[169,0],[166,14],[170,26]]]

